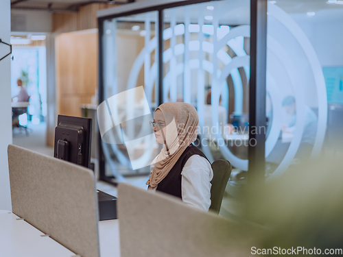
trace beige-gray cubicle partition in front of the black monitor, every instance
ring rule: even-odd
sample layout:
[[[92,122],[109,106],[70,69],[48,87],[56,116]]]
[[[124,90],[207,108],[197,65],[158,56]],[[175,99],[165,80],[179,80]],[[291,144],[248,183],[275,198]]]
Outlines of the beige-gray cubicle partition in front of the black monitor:
[[[8,146],[12,211],[82,257],[99,256],[93,173],[79,165]]]

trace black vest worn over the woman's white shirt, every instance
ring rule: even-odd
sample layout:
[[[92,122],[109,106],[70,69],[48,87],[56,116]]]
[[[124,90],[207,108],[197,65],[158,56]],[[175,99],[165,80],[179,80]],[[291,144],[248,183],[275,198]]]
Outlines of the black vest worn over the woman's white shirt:
[[[178,161],[176,162],[176,164],[174,164],[174,167],[171,168],[168,175],[160,183],[158,183],[156,191],[161,191],[169,195],[180,197],[182,199],[181,172],[187,160],[195,154],[198,154],[199,156],[206,158],[206,156],[202,153],[202,151],[200,151],[200,149],[198,149],[195,145],[193,144],[189,145],[185,149],[185,151],[182,153],[180,158],[178,158]],[[206,158],[206,160],[208,159]]]

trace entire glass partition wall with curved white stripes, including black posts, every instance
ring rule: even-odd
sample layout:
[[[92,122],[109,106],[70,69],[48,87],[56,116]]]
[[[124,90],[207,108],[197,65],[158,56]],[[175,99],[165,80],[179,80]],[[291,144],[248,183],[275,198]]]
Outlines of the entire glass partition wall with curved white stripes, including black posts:
[[[211,162],[233,164],[226,192],[239,198],[249,174],[268,183],[341,150],[343,33],[331,19],[342,20],[338,2],[170,1],[104,14],[100,102],[143,86],[150,119],[161,103],[191,103],[200,119],[194,144]],[[146,124],[134,119],[121,133],[137,136]],[[145,141],[130,154],[126,143],[102,142],[100,178],[147,179],[159,149]],[[132,158],[146,165],[134,169]]]

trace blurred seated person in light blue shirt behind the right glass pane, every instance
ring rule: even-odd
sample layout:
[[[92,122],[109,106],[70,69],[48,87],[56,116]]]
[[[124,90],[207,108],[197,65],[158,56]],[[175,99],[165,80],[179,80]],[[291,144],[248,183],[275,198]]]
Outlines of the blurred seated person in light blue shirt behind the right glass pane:
[[[289,95],[283,99],[283,109],[291,119],[287,125],[283,125],[281,130],[283,133],[292,133],[296,130],[296,99]],[[296,153],[296,158],[309,158],[311,149],[314,146],[314,140],[317,134],[318,119],[316,113],[305,105],[305,125],[303,137],[301,138],[300,146]]]

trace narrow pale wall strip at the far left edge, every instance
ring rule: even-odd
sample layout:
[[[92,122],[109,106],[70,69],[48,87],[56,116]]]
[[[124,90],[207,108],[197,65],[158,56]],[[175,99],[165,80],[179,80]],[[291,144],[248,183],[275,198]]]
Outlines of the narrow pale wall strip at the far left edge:
[[[0,38],[10,42],[10,0],[0,1]],[[0,44],[1,58],[9,52],[9,47]],[[0,61],[0,210],[12,210],[10,178],[8,175],[7,147],[12,143],[10,56]]]

